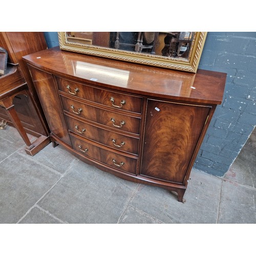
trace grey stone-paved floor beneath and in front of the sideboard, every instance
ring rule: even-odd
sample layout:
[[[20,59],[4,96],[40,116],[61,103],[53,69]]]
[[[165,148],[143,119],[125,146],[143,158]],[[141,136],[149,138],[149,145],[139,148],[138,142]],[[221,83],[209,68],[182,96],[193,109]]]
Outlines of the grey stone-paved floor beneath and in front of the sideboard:
[[[0,223],[256,223],[256,131],[225,177],[192,170],[185,203],[61,146],[31,157],[24,145],[13,127],[0,130]]]

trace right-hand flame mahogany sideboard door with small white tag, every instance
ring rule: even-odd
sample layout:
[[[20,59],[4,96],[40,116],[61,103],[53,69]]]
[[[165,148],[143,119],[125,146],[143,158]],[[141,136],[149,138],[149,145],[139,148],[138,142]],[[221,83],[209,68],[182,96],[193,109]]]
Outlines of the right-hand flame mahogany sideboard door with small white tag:
[[[147,100],[141,175],[182,184],[210,107]]]

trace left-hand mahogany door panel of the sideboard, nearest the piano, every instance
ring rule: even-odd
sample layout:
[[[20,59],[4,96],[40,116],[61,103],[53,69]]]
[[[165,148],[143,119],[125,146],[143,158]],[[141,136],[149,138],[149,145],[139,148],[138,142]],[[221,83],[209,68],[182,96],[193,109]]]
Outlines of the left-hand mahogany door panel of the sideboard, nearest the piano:
[[[53,75],[28,65],[51,132],[71,145],[68,127],[63,116]]]

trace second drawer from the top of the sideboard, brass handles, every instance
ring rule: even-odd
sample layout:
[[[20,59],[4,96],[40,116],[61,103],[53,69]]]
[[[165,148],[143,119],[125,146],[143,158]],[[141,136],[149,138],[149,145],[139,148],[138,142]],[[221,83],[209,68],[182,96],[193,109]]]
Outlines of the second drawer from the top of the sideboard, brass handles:
[[[63,104],[63,109],[73,115],[120,131],[133,134],[140,133],[141,118],[103,110],[89,104],[84,104],[79,101],[66,98],[64,96],[61,96],[60,98]]]

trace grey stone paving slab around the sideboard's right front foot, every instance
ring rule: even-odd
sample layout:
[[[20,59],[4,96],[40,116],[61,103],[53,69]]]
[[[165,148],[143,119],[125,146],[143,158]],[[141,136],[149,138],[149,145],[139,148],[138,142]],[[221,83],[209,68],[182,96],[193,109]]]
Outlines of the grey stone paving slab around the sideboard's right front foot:
[[[216,223],[221,180],[193,170],[185,203],[166,189],[140,185],[130,205],[163,223]]]

